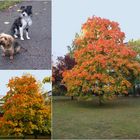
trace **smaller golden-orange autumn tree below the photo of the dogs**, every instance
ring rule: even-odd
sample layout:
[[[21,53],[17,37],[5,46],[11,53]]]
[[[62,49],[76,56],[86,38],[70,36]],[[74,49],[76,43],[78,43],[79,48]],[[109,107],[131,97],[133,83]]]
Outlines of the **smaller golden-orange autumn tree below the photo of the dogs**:
[[[39,82],[30,74],[9,80],[0,119],[2,135],[51,133],[51,105],[45,105]]]

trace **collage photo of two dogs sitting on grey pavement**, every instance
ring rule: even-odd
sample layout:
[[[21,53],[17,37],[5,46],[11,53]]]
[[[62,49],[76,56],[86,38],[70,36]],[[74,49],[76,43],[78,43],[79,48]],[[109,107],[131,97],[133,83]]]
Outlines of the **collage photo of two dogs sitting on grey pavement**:
[[[0,1],[0,69],[51,69],[51,1]]]

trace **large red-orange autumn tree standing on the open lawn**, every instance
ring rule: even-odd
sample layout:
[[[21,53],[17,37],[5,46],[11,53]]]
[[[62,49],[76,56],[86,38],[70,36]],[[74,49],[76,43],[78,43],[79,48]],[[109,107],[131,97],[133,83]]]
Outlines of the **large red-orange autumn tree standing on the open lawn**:
[[[99,96],[110,99],[116,94],[127,94],[131,78],[140,73],[136,52],[123,41],[117,22],[92,17],[83,24],[74,40],[76,65],[63,73],[69,96]],[[133,75],[133,76],[132,76]]]

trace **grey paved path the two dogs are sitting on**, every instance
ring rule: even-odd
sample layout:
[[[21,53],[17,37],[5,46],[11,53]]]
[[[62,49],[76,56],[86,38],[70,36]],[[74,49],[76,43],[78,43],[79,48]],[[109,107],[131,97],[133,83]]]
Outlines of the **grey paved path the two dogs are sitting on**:
[[[22,5],[33,6],[33,24],[29,29],[30,40],[17,41],[27,51],[14,57],[2,57],[0,50],[0,69],[51,69],[51,1],[23,1],[3,12],[0,11],[0,33],[8,33]],[[8,23],[9,24],[5,24]]]

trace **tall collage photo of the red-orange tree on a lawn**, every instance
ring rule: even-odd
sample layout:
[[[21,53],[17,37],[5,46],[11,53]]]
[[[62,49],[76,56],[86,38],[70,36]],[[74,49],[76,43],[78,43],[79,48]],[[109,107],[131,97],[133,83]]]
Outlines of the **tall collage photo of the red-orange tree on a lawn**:
[[[53,1],[53,139],[140,139],[139,5]]]

